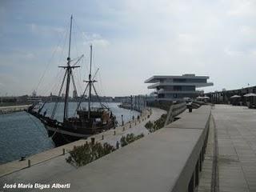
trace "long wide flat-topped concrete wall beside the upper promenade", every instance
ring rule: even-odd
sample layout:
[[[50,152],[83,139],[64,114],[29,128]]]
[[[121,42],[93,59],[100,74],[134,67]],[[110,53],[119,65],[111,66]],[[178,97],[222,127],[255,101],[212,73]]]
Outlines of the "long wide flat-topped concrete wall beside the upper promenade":
[[[210,106],[179,117],[53,182],[70,183],[66,191],[194,191],[206,148]]]

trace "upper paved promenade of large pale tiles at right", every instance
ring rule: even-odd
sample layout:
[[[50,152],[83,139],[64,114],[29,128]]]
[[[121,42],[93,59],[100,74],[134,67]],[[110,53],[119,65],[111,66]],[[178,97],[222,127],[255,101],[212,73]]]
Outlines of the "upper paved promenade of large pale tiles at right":
[[[256,191],[256,110],[215,105],[220,192]]]

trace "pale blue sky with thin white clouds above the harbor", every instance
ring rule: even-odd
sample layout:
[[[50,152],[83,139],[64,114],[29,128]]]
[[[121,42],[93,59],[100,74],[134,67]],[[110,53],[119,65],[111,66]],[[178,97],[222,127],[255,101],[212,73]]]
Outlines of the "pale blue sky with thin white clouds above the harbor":
[[[98,94],[150,94],[144,81],[159,74],[210,76],[205,92],[255,86],[255,10],[254,0],[1,0],[0,96],[58,94],[71,14],[78,94],[90,44]]]

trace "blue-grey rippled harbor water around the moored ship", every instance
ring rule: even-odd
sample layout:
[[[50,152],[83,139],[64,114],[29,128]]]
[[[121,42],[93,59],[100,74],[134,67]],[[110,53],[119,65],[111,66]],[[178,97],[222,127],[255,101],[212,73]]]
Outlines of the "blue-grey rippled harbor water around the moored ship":
[[[133,115],[136,117],[139,114],[137,111],[119,108],[119,103],[112,102],[106,105],[116,116],[119,124],[122,123],[122,115],[123,121],[129,122]],[[92,106],[97,107],[98,103],[92,103]],[[82,107],[86,107],[86,103],[82,103]],[[46,111],[46,116],[50,116],[53,108],[54,103],[46,103],[42,113]],[[63,103],[58,103],[54,118],[59,121],[62,121],[63,108]],[[75,102],[69,103],[69,116],[75,115],[76,108]],[[0,164],[51,148],[54,148],[54,142],[48,138],[46,129],[37,118],[25,111],[0,115]]]

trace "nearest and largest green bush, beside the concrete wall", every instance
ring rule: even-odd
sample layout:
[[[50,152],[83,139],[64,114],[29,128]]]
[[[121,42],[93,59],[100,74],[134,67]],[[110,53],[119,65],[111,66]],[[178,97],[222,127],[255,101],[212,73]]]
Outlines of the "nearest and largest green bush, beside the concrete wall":
[[[114,150],[114,146],[106,142],[103,145],[99,142],[94,145],[86,143],[83,146],[74,146],[74,149],[70,151],[70,156],[66,158],[66,162],[74,163],[76,166],[84,166]]]

